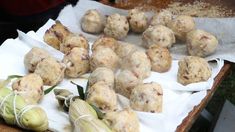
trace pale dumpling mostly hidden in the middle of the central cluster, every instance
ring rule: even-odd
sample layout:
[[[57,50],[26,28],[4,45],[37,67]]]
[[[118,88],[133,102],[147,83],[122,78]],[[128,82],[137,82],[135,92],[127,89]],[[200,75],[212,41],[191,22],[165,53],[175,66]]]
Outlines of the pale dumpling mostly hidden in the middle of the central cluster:
[[[133,53],[137,50],[137,47],[133,44],[122,42],[118,45],[116,54],[120,57],[120,59],[124,59],[129,54]]]

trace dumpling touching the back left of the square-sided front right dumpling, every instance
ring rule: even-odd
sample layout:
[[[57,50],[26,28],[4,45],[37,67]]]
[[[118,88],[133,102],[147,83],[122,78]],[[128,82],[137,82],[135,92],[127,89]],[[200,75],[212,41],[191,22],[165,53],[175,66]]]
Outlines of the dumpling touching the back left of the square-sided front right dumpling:
[[[127,98],[130,98],[132,89],[141,84],[142,80],[129,70],[121,71],[115,78],[115,91]]]

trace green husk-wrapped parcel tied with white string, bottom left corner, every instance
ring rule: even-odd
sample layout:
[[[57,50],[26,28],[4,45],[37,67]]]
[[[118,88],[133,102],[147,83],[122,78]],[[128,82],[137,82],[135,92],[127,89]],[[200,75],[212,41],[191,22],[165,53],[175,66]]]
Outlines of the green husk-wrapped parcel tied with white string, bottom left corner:
[[[0,115],[7,124],[33,131],[46,131],[48,119],[40,107],[31,107],[9,88],[0,88]],[[14,107],[15,104],[15,107]],[[15,112],[15,113],[14,113]]]

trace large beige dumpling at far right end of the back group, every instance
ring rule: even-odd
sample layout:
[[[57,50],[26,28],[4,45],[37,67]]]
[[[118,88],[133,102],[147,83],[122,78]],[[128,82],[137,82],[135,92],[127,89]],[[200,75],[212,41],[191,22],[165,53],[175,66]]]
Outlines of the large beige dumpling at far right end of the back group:
[[[193,30],[187,34],[189,55],[206,57],[215,52],[218,46],[216,37],[203,30]]]

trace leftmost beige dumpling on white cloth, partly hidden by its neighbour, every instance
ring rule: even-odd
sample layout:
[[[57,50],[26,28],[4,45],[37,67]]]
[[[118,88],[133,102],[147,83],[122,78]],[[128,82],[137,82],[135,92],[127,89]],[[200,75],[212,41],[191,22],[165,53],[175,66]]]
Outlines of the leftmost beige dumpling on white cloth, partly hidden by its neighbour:
[[[24,66],[29,72],[34,72],[37,64],[49,57],[51,56],[46,50],[34,47],[24,56]]]

